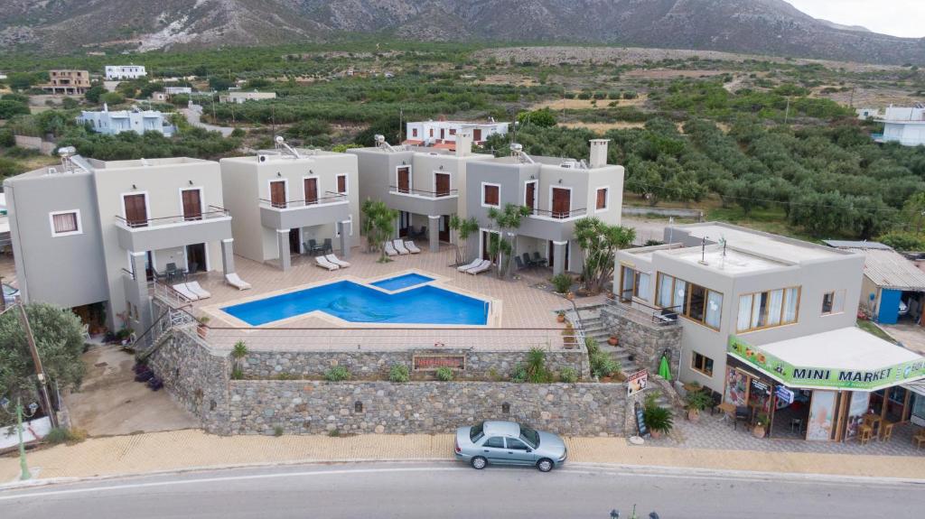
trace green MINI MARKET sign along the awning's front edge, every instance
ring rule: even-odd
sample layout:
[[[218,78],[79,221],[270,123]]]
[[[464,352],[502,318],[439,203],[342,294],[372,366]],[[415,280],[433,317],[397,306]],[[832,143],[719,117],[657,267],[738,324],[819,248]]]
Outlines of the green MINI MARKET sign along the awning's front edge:
[[[925,377],[925,359],[922,358],[875,369],[794,366],[734,335],[729,336],[727,351],[783,384],[796,388],[877,391]]]

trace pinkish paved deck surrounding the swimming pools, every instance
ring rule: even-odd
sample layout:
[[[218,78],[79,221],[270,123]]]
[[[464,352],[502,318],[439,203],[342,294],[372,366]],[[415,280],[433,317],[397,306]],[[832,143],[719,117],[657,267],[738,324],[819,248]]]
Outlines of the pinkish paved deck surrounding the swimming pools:
[[[536,345],[561,343],[562,325],[556,322],[555,312],[571,305],[536,284],[546,282],[545,270],[520,272],[521,279],[499,280],[495,272],[477,276],[457,272],[450,264],[454,248],[441,247],[436,253],[399,256],[388,263],[378,263],[378,254],[367,254],[362,248],[351,251],[351,266],[328,272],[314,264],[308,256],[293,258],[292,267],[283,272],[276,267],[235,258],[240,278],[253,285],[253,289],[239,291],[225,284],[221,272],[195,276],[212,297],[193,303],[193,313],[208,315],[207,341],[216,349],[229,349],[243,339],[248,347],[259,350],[294,351],[311,350],[390,350],[408,348],[475,347],[478,349],[527,349]],[[314,312],[272,323],[260,330],[249,329],[246,323],[236,320],[220,308],[240,304],[267,296],[275,296],[316,284],[350,279],[369,283],[419,272],[436,278],[437,286],[467,296],[491,300],[493,306],[489,325],[479,327],[441,325],[369,325],[347,323],[337,318]],[[590,301],[583,301],[587,304]],[[555,347],[555,346],[551,346]]]

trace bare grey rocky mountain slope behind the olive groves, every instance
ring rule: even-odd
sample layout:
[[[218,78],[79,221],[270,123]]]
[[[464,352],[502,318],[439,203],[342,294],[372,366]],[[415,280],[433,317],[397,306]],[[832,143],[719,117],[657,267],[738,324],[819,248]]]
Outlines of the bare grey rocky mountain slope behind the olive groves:
[[[812,18],[783,0],[0,0],[0,46],[62,52],[327,41],[606,43],[925,64],[925,39]]]

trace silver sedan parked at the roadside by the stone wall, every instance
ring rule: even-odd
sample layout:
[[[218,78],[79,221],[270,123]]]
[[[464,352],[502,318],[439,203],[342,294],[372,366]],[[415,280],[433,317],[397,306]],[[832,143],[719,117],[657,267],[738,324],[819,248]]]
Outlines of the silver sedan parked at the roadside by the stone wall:
[[[536,466],[549,472],[568,456],[565,442],[555,434],[500,421],[457,428],[454,451],[457,460],[479,470],[491,464]]]

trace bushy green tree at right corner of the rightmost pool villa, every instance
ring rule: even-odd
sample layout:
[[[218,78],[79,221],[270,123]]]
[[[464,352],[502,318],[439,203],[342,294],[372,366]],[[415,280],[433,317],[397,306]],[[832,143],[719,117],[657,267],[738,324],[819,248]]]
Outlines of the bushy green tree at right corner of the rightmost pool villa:
[[[617,251],[632,245],[635,229],[604,223],[598,218],[582,218],[575,222],[574,236],[575,243],[585,253],[582,267],[585,289],[598,294],[613,278]]]

